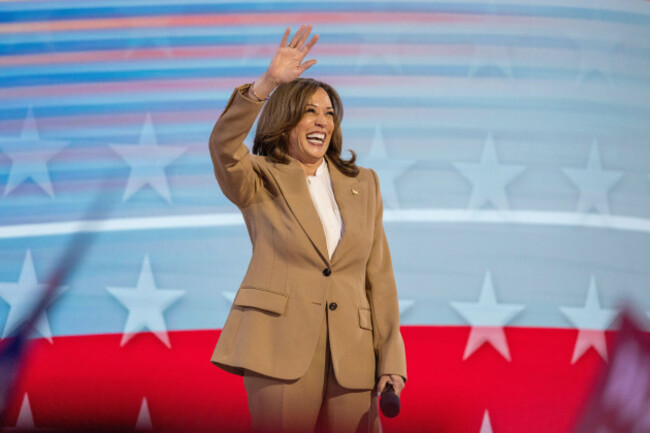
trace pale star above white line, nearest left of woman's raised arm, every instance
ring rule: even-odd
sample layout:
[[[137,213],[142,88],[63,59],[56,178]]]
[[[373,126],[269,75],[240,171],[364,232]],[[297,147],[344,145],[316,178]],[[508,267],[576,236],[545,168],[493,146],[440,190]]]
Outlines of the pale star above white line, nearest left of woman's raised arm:
[[[168,203],[171,203],[165,167],[186,149],[159,146],[150,114],[147,114],[138,144],[128,146],[112,144],[111,148],[131,166],[131,174],[124,191],[124,201],[148,184]]]

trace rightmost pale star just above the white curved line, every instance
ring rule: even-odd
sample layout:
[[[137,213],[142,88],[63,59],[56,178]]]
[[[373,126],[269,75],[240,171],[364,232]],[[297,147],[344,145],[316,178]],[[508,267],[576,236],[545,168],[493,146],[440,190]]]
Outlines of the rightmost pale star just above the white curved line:
[[[595,208],[602,214],[609,214],[607,192],[621,179],[623,173],[603,170],[596,140],[591,146],[586,169],[565,168],[563,171],[580,190],[578,212],[589,212]]]

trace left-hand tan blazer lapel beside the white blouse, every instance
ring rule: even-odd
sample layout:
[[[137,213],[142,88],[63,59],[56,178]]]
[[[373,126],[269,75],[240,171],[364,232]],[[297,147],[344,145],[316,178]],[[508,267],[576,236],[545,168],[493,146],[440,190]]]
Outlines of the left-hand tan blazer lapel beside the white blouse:
[[[274,164],[274,166],[277,169],[276,179],[278,185],[291,212],[318,251],[318,254],[326,264],[329,264],[323,224],[311,199],[305,172],[300,167],[300,164],[293,159],[290,164]]]

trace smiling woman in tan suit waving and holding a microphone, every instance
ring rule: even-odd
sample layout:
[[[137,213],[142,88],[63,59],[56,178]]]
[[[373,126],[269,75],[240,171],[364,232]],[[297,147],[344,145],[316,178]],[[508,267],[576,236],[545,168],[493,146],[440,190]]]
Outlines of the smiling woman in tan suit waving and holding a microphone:
[[[310,32],[287,43],[286,30],[210,136],[253,244],[212,362],[244,376],[255,431],[377,431],[378,393],[406,380],[379,183],[354,153],[341,158],[336,91],[299,78],[316,63],[303,63]],[[251,155],[243,141],[263,106]]]

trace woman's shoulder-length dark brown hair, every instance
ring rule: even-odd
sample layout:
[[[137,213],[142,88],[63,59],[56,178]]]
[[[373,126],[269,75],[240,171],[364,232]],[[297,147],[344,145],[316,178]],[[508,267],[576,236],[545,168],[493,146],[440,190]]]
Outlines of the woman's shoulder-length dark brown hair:
[[[309,98],[319,88],[327,92],[334,109],[334,130],[327,149],[327,156],[343,174],[355,177],[359,174],[359,167],[355,164],[357,155],[350,150],[352,157],[349,160],[341,158],[343,147],[343,136],[341,135],[343,103],[341,98],[332,86],[311,78],[298,78],[281,84],[275,89],[264,104],[257,121],[253,153],[266,156],[273,162],[288,164],[289,134],[302,119]]]

